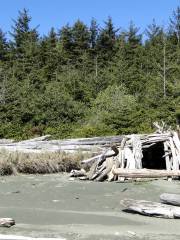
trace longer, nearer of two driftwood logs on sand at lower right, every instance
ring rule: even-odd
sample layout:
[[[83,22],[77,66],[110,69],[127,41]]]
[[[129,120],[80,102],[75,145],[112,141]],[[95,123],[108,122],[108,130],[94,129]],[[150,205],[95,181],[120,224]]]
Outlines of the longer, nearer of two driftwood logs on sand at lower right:
[[[121,201],[124,211],[157,218],[180,218],[180,207],[145,200],[125,199]]]

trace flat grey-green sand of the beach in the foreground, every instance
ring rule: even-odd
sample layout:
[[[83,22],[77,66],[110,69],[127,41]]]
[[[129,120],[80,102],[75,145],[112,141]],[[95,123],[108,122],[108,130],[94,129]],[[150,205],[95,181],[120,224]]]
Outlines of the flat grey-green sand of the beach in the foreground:
[[[0,239],[180,239],[178,219],[122,211],[121,199],[159,201],[163,192],[180,193],[180,182],[81,182],[66,174],[1,177],[0,217],[12,217],[16,225],[0,228]]]

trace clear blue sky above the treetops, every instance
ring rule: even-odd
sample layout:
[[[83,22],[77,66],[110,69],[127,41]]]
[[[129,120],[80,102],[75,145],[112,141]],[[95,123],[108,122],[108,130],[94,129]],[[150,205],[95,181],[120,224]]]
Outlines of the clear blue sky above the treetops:
[[[32,17],[31,26],[38,27],[41,35],[51,27],[56,30],[77,19],[87,25],[95,18],[100,26],[111,16],[116,27],[126,29],[133,21],[140,32],[155,19],[167,26],[180,0],[0,0],[0,28],[8,33],[17,19],[18,11],[26,8]]]

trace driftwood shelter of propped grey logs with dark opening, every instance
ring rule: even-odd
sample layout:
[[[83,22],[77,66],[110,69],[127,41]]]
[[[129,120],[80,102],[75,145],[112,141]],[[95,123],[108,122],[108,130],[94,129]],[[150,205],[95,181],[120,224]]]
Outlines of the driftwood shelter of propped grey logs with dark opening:
[[[157,128],[154,134],[125,136],[102,154],[83,160],[81,179],[125,181],[129,178],[180,177],[178,134],[164,123],[154,125]],[[77,177],[76,170],[71,176]]]

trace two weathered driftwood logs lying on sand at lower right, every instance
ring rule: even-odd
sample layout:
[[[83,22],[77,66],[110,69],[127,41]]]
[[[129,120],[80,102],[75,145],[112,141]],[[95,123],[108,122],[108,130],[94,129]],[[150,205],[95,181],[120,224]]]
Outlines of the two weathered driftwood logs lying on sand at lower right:
[[[121,204],[125,206],[125,212],[139,213],[158,218],[180,218],[179,194],[163,193],[160,195],[160,201],[161,203],[125,199],[121,201]]]

